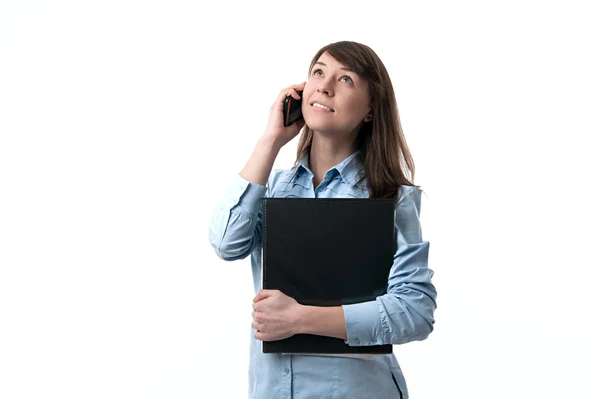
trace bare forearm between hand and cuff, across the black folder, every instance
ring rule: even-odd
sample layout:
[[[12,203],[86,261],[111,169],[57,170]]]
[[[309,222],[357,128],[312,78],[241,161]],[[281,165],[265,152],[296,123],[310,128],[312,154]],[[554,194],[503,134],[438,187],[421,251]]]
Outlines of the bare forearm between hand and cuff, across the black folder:
[[[302,306],[298,318],[299,334],[346,339],[346,320],[341,306]]]

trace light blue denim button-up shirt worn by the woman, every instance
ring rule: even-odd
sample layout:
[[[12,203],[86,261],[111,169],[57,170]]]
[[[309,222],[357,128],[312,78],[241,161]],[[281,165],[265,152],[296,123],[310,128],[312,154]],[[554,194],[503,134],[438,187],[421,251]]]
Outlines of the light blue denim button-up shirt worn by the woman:
[[[251,257],[254,290],[261,287],[262,198],[368,198],[358,152],[325,173],[315,189],[308,155],[298,168],[273,170],[267,187],[237,175],[215,210],[209,239],[226,261]],[[423,340],[433,330],[437,292],[428,268],[429,242],[421,238],[421,191],[401,186],[396,206],[396,252],[385,295],[344,305],[351,346],[404,344]],[[250,326],[249,398],[408,398],[394,354],[372,360],[262,353]]]

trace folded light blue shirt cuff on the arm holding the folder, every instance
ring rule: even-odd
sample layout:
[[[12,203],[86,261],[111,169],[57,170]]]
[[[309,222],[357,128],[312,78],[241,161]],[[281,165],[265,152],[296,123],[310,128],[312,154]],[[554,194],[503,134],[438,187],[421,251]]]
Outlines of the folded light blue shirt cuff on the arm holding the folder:
[[[380,345],[381,319],[377,301],[342,305],[346,319],[345,341],[350,346]]]

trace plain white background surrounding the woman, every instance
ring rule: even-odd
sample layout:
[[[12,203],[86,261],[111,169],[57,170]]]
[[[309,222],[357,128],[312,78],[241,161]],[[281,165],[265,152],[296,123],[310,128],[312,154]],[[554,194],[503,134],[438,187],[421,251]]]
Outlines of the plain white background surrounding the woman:
[[[246,397],[250,260],[208,221],[338,40],[387,66],[426,192],[411,398],[600,397],[592,3],[0,1],[0,397]]]

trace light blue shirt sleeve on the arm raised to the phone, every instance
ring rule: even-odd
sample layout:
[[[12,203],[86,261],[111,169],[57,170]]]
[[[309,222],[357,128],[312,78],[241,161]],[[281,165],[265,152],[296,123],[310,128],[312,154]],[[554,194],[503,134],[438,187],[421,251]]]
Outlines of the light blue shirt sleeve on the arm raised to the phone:
[[[237,174],[209,224],[209,240],[223,260],[247,257],[262,238],[262,199],[267,187]]]

